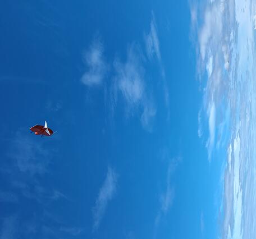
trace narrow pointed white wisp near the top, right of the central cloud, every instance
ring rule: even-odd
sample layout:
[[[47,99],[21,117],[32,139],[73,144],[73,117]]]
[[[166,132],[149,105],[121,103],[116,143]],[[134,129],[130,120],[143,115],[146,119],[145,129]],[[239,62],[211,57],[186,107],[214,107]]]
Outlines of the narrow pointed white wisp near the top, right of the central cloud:
[[[154,55],[157,56],[158,61],[161,61],[161,53],[159,49],[159,40],[157,35],[157,25],[152,13],[152,20],[150,23],[150,32],[145,36],[146,50],[149,59],[152,59]]]

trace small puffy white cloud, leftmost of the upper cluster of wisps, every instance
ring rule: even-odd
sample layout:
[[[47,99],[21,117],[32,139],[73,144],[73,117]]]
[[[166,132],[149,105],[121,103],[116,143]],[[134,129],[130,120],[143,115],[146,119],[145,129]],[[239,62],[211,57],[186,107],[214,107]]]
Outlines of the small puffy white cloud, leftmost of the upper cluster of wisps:
[[[103,57],[103,44],[95,40],[90,49],[84,53],[84,62],[88,71],[81,77],[81,81],[87,86],[102,84],[107,72],[107,65]]]

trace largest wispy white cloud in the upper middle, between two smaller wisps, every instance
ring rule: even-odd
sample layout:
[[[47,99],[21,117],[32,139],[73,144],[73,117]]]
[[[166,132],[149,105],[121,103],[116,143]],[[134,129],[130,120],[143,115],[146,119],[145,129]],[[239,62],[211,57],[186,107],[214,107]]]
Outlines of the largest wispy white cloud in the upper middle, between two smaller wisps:
[[[144,55],[138,44],[132,44],[127,50],[127,59],[121,62],[115,59],[115,77],[113,77],[113,102],[117,104],[118,94],[126,104],[126,116],[133,116],[143,109],[141,114],[141,125],[145,130],[152,130],[157,107],[152,96],[147,94],[145,84],[145,69],[143,67]]]

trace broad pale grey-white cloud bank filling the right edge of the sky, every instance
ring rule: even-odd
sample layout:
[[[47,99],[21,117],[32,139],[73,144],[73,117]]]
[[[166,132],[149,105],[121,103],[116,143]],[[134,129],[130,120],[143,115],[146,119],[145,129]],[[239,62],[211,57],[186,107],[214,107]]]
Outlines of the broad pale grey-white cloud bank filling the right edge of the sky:
[[[200,11],[199,11],[200,9]],[[202,14],[202,15],[201,15]],[[191,26],[203,89],[199,137],[208,133],[208,159],[226,151],[221,176],[222,238],[253,238],[255,186],[255,2],[215,0],[191,4]],[[206,82],[204,82],[206,79]],[[208,132],[203,132],[202,114]],[[205,232],[206,233],[206,232]]]

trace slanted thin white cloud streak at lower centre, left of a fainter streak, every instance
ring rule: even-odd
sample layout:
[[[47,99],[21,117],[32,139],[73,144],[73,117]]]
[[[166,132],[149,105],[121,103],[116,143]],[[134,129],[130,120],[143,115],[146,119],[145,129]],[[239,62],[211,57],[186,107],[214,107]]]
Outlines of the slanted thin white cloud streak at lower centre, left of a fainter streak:
[[[99,190],[99,195],[93,208],[93,229],[98,229],[99,224],[104,216],[109,201],[112,200],[116,192],[117,174],[108,167],[107,176]]]

